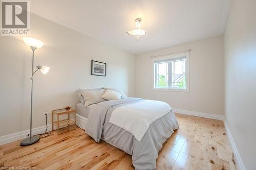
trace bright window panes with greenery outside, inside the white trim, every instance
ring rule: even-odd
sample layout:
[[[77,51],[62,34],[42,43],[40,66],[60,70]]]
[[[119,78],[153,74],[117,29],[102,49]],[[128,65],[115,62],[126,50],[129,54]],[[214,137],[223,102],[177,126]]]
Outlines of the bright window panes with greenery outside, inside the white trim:
[[[154,63],[154,89],[188,91],[188,53],[156,57]]]

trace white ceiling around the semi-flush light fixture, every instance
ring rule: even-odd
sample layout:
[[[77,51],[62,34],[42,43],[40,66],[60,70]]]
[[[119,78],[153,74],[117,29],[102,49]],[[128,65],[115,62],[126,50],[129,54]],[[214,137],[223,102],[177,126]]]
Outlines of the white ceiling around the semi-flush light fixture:
[[[221,35],[231,0],[33,0],[31,12],[133,54]],[[139,40],[126,31],[142,18]]]

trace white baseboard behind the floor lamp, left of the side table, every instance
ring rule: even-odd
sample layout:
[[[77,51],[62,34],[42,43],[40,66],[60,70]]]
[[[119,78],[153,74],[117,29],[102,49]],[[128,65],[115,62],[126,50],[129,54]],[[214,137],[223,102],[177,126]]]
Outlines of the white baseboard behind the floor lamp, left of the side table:
[[[52,130],[52,124],[48,125],[47,132],[49,132],[51,130]],[[38,128],[33,128],[32,135],[44,133],[45,131],[46,131],[46,125],[38,127]],[[28,130],[25,130],[22,132],[16,132],[16,133],[12,133],[12,134],[5,135],[5,136],[0,136],[0,145],[10,143],[13,141],[17,141],[20,139],[25,139],[28,137],[29,133],[30,133],[30,130],[28,129]]]

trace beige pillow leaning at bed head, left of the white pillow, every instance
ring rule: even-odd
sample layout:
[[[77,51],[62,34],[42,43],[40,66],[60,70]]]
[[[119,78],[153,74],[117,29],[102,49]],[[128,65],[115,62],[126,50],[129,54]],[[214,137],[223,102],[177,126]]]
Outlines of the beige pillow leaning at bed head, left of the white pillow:
[[[86,90],[81,93],[84,99],[84,106],[89,106],[95,103],[100,103],[105,101],[101,96],[104,94],[105,89],[100,90]]]

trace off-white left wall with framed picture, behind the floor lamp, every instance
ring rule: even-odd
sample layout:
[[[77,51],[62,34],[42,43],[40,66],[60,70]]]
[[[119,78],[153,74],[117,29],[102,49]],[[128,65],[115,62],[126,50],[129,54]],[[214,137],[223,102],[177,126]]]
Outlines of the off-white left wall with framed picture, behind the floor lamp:
[[[33,128],[43,112],[79,102],[77,88],[117,87],[135,93],[135,56],[95,38],[31,15],[31,37],[44,41],[35,65],[50,66],[34,78]],[[106,77],[91,76],[91,60],[107,63]],[[0,37],[0,136],[29,129],[32,51],[22,37]]]

